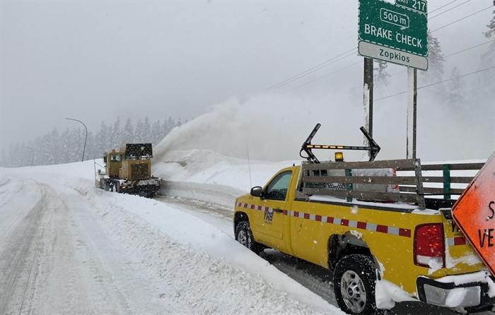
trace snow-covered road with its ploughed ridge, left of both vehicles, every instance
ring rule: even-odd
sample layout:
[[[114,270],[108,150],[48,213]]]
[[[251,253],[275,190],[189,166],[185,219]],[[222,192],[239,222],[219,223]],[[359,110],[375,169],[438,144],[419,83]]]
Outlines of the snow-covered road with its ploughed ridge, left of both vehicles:
[[[0,169],[0,314],[343,314],[184,207],[92,162]]]

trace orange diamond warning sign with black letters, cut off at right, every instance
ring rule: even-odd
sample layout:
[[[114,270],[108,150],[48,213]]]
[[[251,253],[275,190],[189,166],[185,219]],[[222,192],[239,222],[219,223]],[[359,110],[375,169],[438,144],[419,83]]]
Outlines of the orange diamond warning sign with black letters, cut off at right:
[[[495,153],[455,202],[452,216],[495,276]]]

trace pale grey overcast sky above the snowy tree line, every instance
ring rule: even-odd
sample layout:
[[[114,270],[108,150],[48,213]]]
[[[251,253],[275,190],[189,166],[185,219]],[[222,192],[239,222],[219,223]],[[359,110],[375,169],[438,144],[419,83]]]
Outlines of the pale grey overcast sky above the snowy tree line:
[[[429,11],[450,2],[429,1]],[[432,18],[429,28],[491,5],[491,0],[469,1]],[[101,121],[112,124],[117,117],[122,123],[131,117],[134,124],[146,116],[152,122],[170,116],[190,120],[357,47],[357,0],[1,1],[0,8],[2,149],[54,127],[59,132],[78,127],[65,117],[83,121],[93,132]],[[482,32],[492,11],[434,32],[443,52],[487,42]],[[477,70],[472,67],[479,67],[483,49],[487,45],[449,59],[446,66],[459,66],[461,73]],[[355,92],[347,106],[359,105],[362,66],[351,65],[362,59],[355,53],[272,93],[296,88],[291,97],[320,95],[324,100],[315,106],[325,107],[335,102],[325,93],[340,84],[337,89]]]

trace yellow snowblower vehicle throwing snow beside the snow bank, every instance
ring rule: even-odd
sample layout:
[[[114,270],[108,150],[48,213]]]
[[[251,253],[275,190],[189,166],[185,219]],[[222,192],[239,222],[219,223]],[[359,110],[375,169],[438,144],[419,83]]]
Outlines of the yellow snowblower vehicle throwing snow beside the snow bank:
[[[161,178],[151,175],[151,143],[124,143],[120,151],[104,153],[105,172],[95,174],[95,186],[105,191],[153,197]]]

